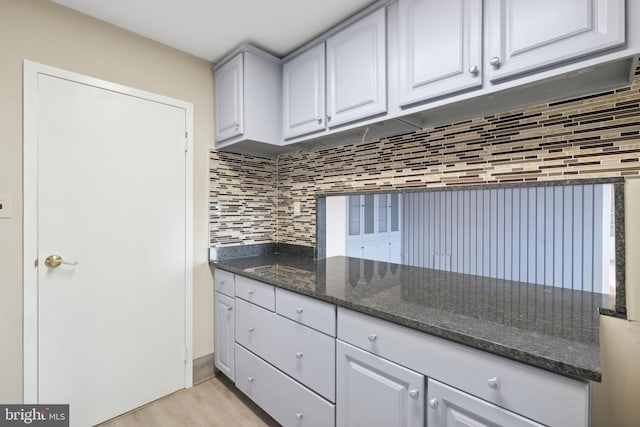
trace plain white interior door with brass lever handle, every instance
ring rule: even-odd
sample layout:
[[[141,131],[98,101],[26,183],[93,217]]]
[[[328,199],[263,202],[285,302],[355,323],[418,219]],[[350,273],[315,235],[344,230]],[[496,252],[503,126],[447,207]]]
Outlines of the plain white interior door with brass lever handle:
[[[42,73],[36,108],[37,399],[89,426],[190,383],[187,112]]]

